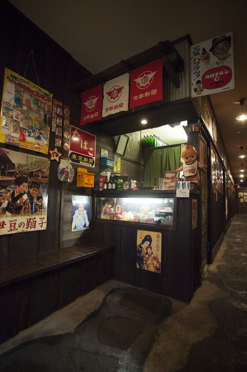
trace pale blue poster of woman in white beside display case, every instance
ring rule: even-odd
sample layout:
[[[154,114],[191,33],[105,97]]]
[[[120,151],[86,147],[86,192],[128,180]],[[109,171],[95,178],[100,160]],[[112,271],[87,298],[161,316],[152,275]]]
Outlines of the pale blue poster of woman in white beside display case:
[[[90,224],[90,196],[72,195],[71,230],[85,230]]]

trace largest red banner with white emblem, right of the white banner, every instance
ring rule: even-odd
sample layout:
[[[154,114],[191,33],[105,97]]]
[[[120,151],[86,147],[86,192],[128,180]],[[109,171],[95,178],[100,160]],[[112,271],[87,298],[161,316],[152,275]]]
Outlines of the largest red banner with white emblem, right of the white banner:
[[[162,60],[148,63],[131,71],[130,109],[162,99]]]

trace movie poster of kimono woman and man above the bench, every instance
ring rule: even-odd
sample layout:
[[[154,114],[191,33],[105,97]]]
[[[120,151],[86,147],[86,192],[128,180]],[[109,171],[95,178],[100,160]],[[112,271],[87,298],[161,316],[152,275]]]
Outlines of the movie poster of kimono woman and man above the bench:
[[[0,148],[0,235],[47,228],[49,163]]]

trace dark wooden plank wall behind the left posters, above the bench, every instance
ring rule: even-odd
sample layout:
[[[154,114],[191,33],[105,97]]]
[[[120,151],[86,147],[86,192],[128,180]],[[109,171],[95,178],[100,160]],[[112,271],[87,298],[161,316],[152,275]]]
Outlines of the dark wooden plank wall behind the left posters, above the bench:
[[[0,46],[0,97],[5,68],[21,76],[26,69],[25,77],[38,83],[32,57],[27,64],[32,50],[40,86],[52,93],[53,99],[70,106],[71,122],[78,125],[81,103],[69,87],[89,76],[90,72],[6,0],[0,2]],[[51,132],[49,148],[54,148],[54,141],[54,133]],[[3,143],[0,143],[0,147],[18,151],[17,147]],[[20,151],[28,152],[24,149]],[[49,158],[49,155],[46,157]],[[61,182],[56,176],[57,166],[57,162],[50,162],[47,230],[0,236],[0,262],[58,248]]]

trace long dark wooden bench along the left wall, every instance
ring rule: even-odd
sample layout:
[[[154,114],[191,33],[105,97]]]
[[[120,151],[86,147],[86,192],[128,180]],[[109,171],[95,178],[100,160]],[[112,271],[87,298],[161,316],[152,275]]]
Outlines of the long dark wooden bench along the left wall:
[[[111,279],[114,248],[86,243],[0,264],[0,343]]]

